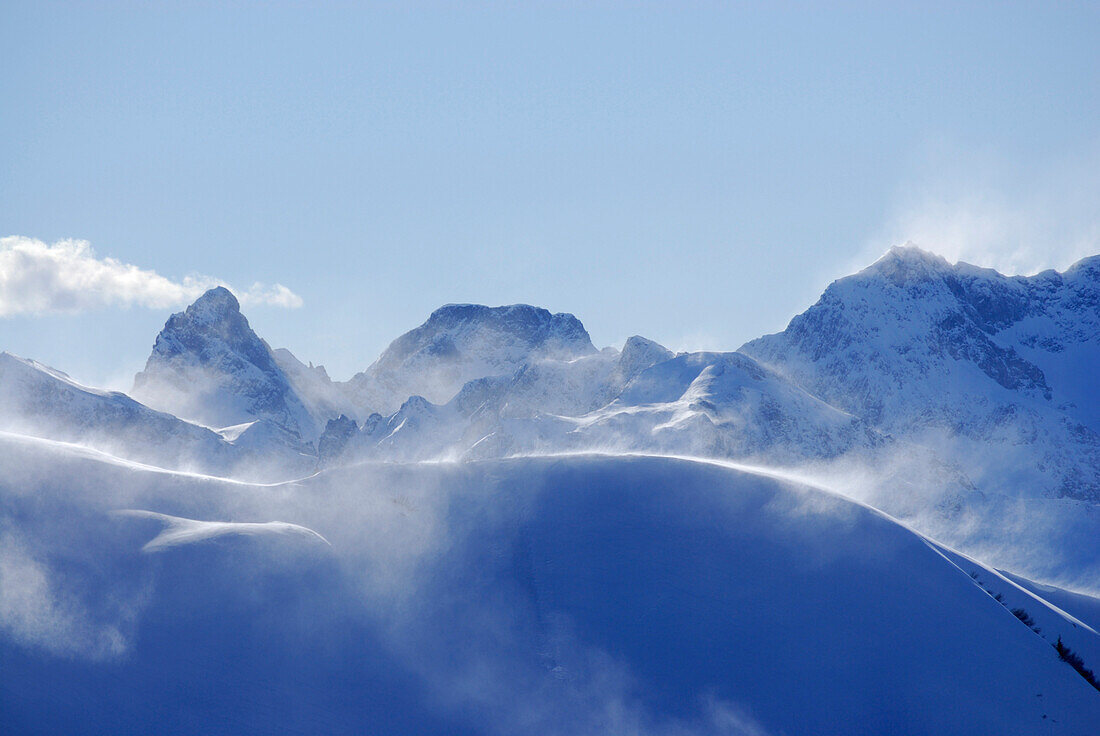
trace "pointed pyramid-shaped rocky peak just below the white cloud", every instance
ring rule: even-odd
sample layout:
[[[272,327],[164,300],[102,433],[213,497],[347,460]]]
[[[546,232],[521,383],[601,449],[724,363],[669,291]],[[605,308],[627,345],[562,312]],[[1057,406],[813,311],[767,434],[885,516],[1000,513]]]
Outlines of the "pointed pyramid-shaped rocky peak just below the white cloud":
[[[134,377],[133,395],[212,427],[268,419],[302,438],[317,433],[272,350],[220,286],[168,319]]]

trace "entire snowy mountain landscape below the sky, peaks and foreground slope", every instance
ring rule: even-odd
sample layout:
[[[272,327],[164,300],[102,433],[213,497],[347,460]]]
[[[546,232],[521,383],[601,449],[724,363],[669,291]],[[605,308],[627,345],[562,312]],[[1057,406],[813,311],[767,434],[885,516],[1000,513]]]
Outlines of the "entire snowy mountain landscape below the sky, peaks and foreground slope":
[[[1098,367],[1100,256],[913,245],[730,352],[447,305],[339,382],[217,287],[130,394],[2,353],[0,733],[1094,734]]]

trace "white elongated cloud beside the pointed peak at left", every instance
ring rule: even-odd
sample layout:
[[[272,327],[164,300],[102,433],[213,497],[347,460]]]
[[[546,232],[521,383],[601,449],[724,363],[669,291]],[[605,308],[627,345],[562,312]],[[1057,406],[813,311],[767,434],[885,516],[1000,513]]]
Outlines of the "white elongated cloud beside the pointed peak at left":
[[[222,285],[243,305],[294,309],[301,297],[282,284],[253,284],[246,292],[211,276],[173,281],[155,271],[99,257],[82,240],[54,244],[33,238],[0,238],[0,317],[42,312],[77,312],[103,307],[184,306]]]

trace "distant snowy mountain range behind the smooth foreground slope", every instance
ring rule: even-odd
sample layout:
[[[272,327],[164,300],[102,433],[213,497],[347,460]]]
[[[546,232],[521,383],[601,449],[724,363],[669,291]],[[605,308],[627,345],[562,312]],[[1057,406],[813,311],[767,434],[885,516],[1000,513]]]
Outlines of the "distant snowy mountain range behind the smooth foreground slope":
[[[562,452],[822,477],[857,469],[862,487],[849,494],[964,547],[996,546],[975,515],[1003,528],[1021,504],[1058,519],[1081,516],[1069,502],[1100,504],[1097,365],[1100,256],[1009,277],[906,245],[738,351],[674,354],[641,337],[596,350],[572,315],[448,305],[348,382],[273,350],[219,287],[168,319],[133,398],[4,355],[0,427],[276,480],[360,461]],[[1070,526],[1049,543],[1092,529]],[[1065,564],[1100,574],[1100,560]]]

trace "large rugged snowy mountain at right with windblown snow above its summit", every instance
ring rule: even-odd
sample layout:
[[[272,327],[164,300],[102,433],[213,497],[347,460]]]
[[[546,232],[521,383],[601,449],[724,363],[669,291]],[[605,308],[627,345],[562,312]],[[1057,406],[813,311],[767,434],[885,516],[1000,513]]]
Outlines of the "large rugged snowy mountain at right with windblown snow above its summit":
[[[1009,277],[895,248],[741,351],[979,485],[1100,499],[1100,259]]]

